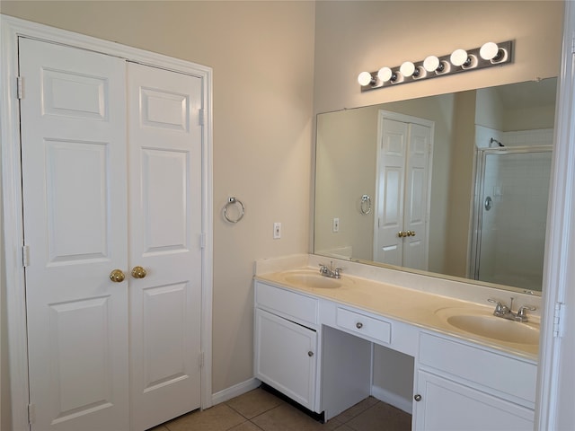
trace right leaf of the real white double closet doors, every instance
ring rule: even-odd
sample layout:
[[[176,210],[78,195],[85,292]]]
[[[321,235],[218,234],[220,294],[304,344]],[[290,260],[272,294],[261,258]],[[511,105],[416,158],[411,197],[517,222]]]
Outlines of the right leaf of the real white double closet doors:
[[[133,430],[200,406],[201,80],[128,63]]]

